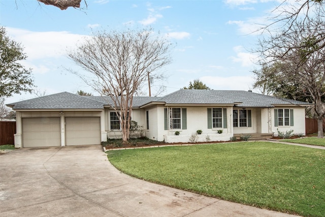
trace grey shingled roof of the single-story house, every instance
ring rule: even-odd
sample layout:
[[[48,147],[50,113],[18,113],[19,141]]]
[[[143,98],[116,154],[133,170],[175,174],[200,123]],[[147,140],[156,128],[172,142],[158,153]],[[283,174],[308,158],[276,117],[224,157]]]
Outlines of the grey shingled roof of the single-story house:
[[[271,108],[274,105],[300,105],[309,103],[280,99],[243,90],[192,90],[180,89],[165,97],[134,97],[133,107],[149,103],[167,105],[233,105],[238,107]],[[113,105],[110,97],[79,96],[61,92],[45,97],[7,104],[13,109],[104,109]]]

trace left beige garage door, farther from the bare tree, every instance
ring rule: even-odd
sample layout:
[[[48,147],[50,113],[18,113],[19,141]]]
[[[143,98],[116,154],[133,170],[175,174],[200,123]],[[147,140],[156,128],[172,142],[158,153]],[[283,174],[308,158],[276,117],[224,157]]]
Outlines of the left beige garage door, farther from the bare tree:
[[[22,118],[23,147],[60,146],[60,118]]]

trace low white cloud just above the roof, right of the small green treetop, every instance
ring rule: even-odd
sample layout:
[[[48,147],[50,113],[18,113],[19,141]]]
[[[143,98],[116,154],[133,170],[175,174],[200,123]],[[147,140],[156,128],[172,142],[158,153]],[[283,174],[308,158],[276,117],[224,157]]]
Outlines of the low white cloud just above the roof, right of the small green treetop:
[[[200,80],[211,89],[217,90],[248,90],[254,83],[251,76],[203,76]]]

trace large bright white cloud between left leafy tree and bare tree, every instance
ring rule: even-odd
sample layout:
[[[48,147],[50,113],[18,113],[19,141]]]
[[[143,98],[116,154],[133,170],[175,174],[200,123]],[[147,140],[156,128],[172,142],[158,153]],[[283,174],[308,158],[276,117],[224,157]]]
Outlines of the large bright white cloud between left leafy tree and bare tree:
[[[7,27],[7,33],[15,41],[21,42],[28,60],[56,58],[66,55],[67,47],[74,47],[86,36],[69,32],[31,32]]]

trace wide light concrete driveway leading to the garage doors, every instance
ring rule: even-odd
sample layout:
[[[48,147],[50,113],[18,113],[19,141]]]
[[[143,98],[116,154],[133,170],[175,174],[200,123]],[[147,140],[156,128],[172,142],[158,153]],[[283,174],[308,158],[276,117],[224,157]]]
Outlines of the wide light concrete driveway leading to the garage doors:
[[[0,216],[290,216],[139,180],[100,145],[0,156]],[[295,215],[291,215],[295,216]]]

